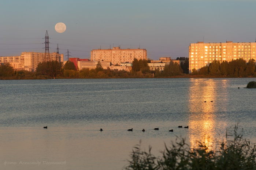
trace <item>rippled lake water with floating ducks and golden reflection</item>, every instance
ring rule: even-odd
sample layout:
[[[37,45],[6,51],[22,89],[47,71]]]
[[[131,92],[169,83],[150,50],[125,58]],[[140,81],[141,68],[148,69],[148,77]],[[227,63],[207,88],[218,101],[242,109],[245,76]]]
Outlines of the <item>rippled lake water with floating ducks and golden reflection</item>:
[[[214,148],[237,124],[255,142],[255,80],[0,80],[0,169],[120,170],[140,140],[157,156],[177,136]]]

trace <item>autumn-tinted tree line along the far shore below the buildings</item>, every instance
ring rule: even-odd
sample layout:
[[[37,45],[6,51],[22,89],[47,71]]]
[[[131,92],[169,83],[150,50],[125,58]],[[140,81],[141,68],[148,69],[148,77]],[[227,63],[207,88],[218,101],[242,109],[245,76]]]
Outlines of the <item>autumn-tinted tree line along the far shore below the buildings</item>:
[[[232,60],[230,62],[215,60],[209,65],[202,67],[198,71],[192,70],[191,74],[188,74],[189,61],[188,58],[180,57],[177,60],[185,60],[181,64],[171,61],[164,66],[163,71],[159,69],[150,70],[148,63],[151,60],[134,58],[131,71],[115,70],[115,69],[103,69],[100,61],[97,63],[95,69],[83,68],[76,70],[73,62],[67,61],[62,67],[62,63],[55,63],[56,61],[49,62],[45,65],[50,67],[56,65],[62,67],[62,72],[55,74],[56,78],[68,78],[68,79],[99,79],[99,78],[171,78],[171,77],[256,77],[255,60],[251,59],[248,63],[242,58]],[[56,67],[55,67],[56,68]],[[49,69],[42,71],[43,64],[39,63],[36,72],[30,72],[25,70],[16,71],[10,65],[10,63],[4,63],[0,65],[0,79],[51,79],[51,73]],[[55,78],[55,77],[54,77]]]

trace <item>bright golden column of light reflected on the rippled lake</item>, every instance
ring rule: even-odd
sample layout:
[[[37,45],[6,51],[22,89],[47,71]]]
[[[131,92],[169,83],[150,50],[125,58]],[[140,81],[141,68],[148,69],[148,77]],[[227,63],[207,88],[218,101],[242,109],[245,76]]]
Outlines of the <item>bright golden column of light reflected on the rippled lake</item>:
[[[225,81],[222,83],[226,83]],[[214,150],[219,134],[216,132],[216,101],[218,85],[213,79],[191,79],[189,88],[189,140],[191,149],[201,142]],[[206,102],[205,102],[206,101]],[[213,102],[211,102],[213,101]]]

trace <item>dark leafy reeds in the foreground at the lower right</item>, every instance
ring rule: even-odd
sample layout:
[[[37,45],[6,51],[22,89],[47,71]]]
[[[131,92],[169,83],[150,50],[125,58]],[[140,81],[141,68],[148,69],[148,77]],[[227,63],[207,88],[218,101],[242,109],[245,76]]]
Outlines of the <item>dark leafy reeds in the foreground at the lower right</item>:
[[[126,170],[256,170],[256,145],[243,139],[235,126],[232,140],[226,134],[226,142],[218,144],[216,151],[199,143],[190,149],[183,138],[172,146],[165,145],[162,156],[156,158],[149,151],[142,151],[141,144],[134,147]]]

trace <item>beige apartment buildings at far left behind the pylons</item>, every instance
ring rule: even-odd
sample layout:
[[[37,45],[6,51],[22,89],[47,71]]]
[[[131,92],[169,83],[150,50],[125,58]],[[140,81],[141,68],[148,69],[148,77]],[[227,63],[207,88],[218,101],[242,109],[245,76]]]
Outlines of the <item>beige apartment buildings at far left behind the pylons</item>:
[[[51,59],[56,60],[57,53],[50,53]],[[61,62],[63,62],[63,54],[59,54]],[[41,63],[44,53],[22,52],[21,56],[0,57],[0,63],[10,63],[16,70],[36,71],[38,63]]]

